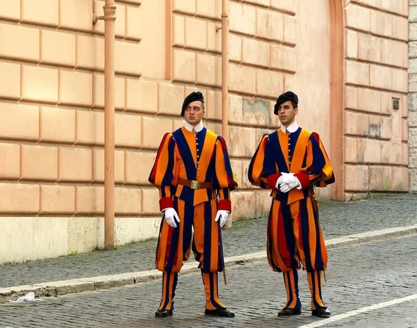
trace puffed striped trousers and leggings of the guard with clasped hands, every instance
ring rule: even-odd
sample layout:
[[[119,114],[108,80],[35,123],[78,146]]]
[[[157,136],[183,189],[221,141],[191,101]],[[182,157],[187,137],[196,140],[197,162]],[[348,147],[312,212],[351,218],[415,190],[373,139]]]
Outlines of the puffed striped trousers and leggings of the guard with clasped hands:
[[[307,271],[311,309],[326,308],[322,301],[320,273],[327,266],[327,250],[311,197],[289,205],[272,199],[267,238],[270,267],[284,274],[287,293],[284,309],[301,308],[297,273],[300,262]]]

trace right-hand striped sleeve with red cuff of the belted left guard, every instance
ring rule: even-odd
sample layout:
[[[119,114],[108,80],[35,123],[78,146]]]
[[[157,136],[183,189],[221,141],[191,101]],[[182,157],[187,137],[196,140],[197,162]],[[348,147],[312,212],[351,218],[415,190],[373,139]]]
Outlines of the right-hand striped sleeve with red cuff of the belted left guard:
[[[221,136],[215,142],[215,173],[213,188],[218,190],[219,210],[231,212],[230,192],[238,187],[238,179],[231,167],[227,145]]]

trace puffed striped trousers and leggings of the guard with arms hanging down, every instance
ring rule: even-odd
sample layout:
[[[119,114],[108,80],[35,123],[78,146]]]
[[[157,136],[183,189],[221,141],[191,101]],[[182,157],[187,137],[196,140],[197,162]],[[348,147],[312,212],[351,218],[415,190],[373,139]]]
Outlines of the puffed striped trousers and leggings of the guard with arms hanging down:
[[[225,308],[218,298],[218,272],[223,270],[224,260],[220,222],[214,221],[217,213],[214,199],[192,206],[174,197],[174,208],[179,216],[177,227],[170,227],[163,218],[156,247],[156,268],[163,272],[162,299],[158,309],[174,309],[178,272],[183,261],[190,257],[192,239],[193,253],[202,272],[206,309]]]

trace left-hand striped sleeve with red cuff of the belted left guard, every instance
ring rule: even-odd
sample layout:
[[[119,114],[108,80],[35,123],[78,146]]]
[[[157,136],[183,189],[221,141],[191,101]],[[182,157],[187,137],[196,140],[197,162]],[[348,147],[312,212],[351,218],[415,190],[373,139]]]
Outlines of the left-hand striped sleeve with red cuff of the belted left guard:
[[[149,174],[149,182],[159,190],[159,207],[161,211],[174,207],[172,200],[172,181],[176,177],[175,140],[172,133],[165,133],[156,154],[154,167]]]

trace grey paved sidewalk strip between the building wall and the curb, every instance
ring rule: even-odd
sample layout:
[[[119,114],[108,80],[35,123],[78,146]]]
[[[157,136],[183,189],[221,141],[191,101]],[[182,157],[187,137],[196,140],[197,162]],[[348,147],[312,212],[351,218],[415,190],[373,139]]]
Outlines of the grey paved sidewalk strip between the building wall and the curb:
[[[406,227],[417,224],[417,195],[376,195],[357,202],[322,202],[320,222],[326,240],[341,236]],[[225,256],[243,256],[265,252],[265,218],[234,222],[224,230]],[[0,270],[0,288],[40,284],[87,277],[154,270],[156,240],[18,265],[4,265]],[[193,256],[190,261],[194,262]],[[190,263],[194,265],[195,263]],[[93,286],[94,287],[94,286]]]

